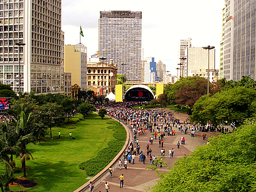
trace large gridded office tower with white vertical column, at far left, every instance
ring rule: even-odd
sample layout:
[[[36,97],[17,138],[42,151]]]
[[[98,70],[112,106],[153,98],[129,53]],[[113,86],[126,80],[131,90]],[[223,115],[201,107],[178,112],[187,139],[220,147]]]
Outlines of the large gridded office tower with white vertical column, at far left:
[[[64,93],[61,0],[0,0],[0,72],[15,92]]]

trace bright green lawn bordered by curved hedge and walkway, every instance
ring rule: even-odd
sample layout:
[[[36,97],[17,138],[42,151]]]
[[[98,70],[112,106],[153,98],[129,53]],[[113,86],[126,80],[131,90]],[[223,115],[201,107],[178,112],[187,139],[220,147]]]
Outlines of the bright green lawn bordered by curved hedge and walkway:
[[[29,168],[27,179],[34,179],[38,185],[24,189],[10,187],[13,191],[74,191],[86,183],[86,172],[79,169],[79,164],[97,156],[98,152],[108,147],[114,140],[113,129],[108,129],[108,123],[113,121],[108,117],[100,119],[96,114],[90,115],[84,121],[79,121],[69,128],[52,129],[53,140],[31,144],[28,146],[34,160],[26,162]],[[67,126],[69,127],[69,126]],[[61,140],[57,140],[57,133],[61,131]],[[69,132],[75,139],[69,139]],[[20,167],[20,161],[16,167]],[[22,170],[16,170],[15,177],[22,176]]]

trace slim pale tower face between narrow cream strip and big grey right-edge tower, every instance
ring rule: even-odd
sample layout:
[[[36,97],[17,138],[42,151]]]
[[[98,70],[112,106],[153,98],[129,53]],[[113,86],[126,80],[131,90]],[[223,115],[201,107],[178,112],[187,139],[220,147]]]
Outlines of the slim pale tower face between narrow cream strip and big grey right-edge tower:
[[[234,53],[234,0],[225,0],[225,18],[223,77],[231,80]]]

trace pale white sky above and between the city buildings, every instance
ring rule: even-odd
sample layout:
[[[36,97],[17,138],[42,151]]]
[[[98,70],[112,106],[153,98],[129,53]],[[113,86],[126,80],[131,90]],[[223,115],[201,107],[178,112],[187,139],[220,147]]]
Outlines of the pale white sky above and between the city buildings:
[[[177,75],[179,40],[191,38],[192,47],[216,48],[215,67],[219,69],[222,9],[224,0],[62,0],[62,30],[65,45],[78,44],[80,26],[88,57],[98,50],[100,11],[142,11],[143,59],[154,57],[166,64],[166,71]]]

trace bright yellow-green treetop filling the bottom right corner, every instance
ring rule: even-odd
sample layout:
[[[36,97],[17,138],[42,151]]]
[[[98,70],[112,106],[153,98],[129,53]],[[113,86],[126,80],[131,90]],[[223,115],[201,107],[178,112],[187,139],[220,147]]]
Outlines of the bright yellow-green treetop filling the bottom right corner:
[[[211,137],[160,174],[151,191],[255,191],[256,125]]]

